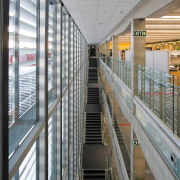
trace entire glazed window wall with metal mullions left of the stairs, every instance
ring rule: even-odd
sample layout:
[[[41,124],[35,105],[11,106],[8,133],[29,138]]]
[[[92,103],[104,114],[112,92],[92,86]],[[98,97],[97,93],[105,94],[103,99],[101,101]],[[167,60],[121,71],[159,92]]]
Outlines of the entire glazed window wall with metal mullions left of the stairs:
[[[0,2],[0,179],[78,179],[87,42],[61,1]]]

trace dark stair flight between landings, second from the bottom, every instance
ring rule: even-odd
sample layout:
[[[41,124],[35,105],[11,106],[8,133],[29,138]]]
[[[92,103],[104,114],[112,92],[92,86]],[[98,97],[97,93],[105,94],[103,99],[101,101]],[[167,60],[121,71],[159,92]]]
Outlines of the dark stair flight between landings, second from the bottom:
[[[86,113],[86,144],[102,144],[100,113]]]

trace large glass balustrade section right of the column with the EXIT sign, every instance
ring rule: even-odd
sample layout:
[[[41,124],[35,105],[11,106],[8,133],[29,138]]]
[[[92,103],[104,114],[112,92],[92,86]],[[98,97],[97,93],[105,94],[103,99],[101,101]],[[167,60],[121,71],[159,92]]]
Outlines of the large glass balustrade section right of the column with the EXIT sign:
[[[137,96],[179,136],[180,78],[149,67],[137,66]]]

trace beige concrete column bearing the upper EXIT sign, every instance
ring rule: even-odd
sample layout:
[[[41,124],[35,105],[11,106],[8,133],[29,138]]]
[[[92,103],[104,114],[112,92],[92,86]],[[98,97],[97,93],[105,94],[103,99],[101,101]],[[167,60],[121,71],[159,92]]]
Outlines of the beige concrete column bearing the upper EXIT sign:
[[[134,31],[145,30],[145,19],[131,21],[131,115],[135,114],[134,97],[137,95],[138,74],[137,65],[145,66],[145,40],[143,36],[133,36]],[[143,73],[142,73],[143,75]],[[144,78],[142,78],[144,79]],[[144,83],[144,82],[142,82]],[[144,87],[144,84],[141,86]],[[133,146],[135,138],[133,122],[131,123],[131,177],[130,179],[145,179],[145,158],[140,146]]]

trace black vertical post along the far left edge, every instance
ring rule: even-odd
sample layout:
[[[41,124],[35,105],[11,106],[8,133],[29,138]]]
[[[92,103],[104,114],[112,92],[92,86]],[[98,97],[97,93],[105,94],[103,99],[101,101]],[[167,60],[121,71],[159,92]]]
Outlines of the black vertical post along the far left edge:
[[[9,1],[0,0],[0,179],[8,179]]]

